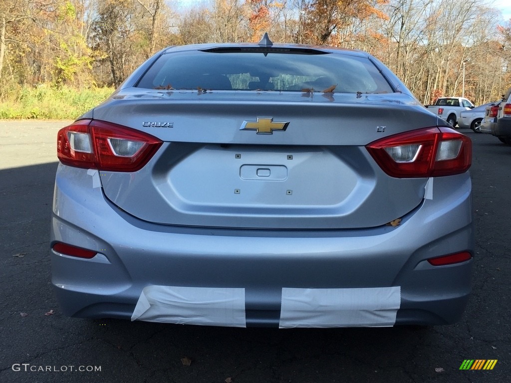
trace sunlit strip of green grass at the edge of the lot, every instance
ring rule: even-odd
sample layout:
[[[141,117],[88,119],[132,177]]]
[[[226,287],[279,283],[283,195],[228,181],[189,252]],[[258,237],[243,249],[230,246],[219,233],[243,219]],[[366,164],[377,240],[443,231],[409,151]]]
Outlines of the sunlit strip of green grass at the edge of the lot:
[[[0,98],[2,119],[75,119],[95,107],[113,92],[113,88],[17,87]]]

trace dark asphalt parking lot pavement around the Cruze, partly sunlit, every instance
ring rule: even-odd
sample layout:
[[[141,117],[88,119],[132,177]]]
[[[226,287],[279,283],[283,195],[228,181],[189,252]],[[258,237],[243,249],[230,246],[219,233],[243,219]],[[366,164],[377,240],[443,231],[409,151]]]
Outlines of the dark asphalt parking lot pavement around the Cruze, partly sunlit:
[[[0,121],[0,381],[509,381],[511,146],[461,130],[474,146],[476,254],[473,294],[459,323],[238,329],[61,315],[50,283],[49,226],[55,138],[64,125]],[[491,371],[459,370],[466,359],[498,362]]]

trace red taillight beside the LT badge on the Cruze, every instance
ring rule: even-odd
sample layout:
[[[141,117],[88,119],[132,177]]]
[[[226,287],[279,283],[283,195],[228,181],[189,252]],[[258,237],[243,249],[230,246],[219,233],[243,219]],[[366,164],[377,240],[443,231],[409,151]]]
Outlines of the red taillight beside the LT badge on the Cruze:
[[[382,170],[396,178],[454,175],[472,163],[470,138],[446,127],[394,134],[366,148]]]

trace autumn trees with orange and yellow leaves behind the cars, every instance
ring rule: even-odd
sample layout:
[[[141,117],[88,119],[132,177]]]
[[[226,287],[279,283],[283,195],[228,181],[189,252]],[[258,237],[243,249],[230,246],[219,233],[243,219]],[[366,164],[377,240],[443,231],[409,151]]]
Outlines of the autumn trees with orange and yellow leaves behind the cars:
[[[511,86],[511,19],[499,25],[501,16],[484,0],[211,0],[187,10],[166,0],[1,0],[0,99],[27,87],[117,86],[166,46],[268,32],[369,52],[424,104],[460,96],[463,83],[482,104]]]

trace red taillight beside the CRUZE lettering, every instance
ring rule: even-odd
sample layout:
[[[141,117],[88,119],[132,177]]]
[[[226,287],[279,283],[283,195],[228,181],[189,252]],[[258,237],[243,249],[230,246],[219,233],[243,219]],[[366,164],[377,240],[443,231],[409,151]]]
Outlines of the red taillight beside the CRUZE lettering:
[[[59,130],[57,157],[64,165],[136,172],[161,146],[158,138],[121,125],[83,119]]]

